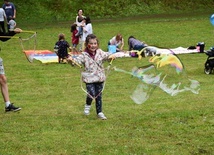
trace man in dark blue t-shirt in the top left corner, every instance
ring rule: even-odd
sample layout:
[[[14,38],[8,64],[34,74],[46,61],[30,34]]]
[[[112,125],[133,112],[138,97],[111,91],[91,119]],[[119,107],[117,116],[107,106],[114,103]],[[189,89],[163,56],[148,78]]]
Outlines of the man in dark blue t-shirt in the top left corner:
[[[4,0],[4,4],[2,5],[2,8],[4,9],[7,21],[9,21],[9,17],[11,16],[14,20],[16,18],[16,7],[12,2],[9,2],[9,0]],[[8,27],[9,29],[9,27]]]

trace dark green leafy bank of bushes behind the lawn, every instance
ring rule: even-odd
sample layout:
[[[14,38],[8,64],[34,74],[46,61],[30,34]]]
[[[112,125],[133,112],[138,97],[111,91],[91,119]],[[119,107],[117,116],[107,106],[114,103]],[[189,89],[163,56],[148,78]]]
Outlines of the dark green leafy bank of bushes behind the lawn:
[[[151,14],[211,12],[212,0],[13,0],[17,20],[22,22],[50,22],[75,20],[77,10],[97,18],[118,18]]]

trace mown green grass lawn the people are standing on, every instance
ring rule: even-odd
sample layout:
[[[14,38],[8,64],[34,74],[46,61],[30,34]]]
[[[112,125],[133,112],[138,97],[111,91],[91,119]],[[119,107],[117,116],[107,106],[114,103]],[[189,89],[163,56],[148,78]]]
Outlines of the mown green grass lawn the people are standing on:
[[[21,28],[37,31],[37,49],[53,50],[59,33],[70,42],[70,22]],[[94,33],[103,50],[120,32],[150,45],[188,47],[205,42],[213,46],[214,27],[209,15],[152,17],[94,21]],[[44,28],[44,29],[43,29]],[[21,34],[20,34],[21,35]],[[29,34],[30,35],[30,34]],[[29,42],[26,42],[26,46]],[[213,154],[213,75],[205,75],[205,54],[179,55],[189,78],[198,80],[198,95],[184,92],[171,97],[156,89],[147,102],[135,104],[130,95],[139,83],[130,75],[111,71],[103,92],[107,121],[83,115],[84,92],[78,67],[66,64],[28,63],[16,39],[1,42],[10,98],[22,107],[18,113],[0,111],[1,155],[160,155]],[[148,59],[116,59],[112,66],[130,71]],[[107,64],[105,64],[107,65]]]

